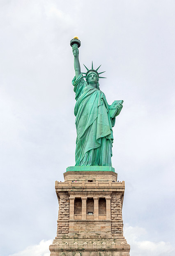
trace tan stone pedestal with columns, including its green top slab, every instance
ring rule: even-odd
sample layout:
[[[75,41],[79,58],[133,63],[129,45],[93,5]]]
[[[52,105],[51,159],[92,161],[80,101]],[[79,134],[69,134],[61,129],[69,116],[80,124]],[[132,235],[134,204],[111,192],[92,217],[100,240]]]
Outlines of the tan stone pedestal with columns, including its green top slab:
[[[71,166],[55,182],[59,201],[51,256],[129,256],[123,236],[124,181],[108,166]]]

